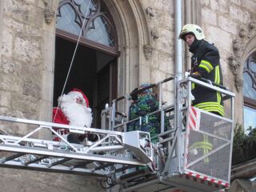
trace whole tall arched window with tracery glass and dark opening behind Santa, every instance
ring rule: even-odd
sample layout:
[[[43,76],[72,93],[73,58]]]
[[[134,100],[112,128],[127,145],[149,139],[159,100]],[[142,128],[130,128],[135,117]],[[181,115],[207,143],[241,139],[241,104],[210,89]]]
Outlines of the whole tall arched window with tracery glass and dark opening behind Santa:
[[[62,90],[66,94],[78,88],[89,99],[93,127],[100,127],[102,109],[117,97],[119,53],[114,20],[103,0],[60,0],[56,17],[54,106]]]

